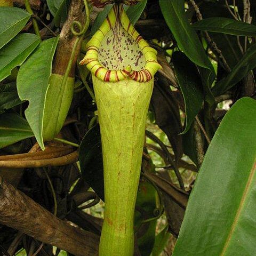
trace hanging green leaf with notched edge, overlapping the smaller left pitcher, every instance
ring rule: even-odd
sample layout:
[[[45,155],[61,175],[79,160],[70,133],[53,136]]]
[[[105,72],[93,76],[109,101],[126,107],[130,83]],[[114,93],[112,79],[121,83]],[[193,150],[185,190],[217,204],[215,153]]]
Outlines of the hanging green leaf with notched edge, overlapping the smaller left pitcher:
[[[21,100],[29,101],[29,106],[25,110],[27,121],[42,149],[46,93],[58,39],[59,37],[55,37],[43,41],[21,66],[17,77],[19,97]]]

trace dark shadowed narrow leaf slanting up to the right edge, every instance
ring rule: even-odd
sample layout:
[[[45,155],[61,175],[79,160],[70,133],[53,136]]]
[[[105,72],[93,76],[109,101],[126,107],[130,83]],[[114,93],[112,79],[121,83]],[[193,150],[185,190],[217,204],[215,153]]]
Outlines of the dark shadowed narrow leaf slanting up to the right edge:
[[[247,73],[256,67],[256,44],[253,44],[243,55],[242,59],[231,70],[231,72],[221,79],[212,89],[214,95],[220,95],[236,85]]]

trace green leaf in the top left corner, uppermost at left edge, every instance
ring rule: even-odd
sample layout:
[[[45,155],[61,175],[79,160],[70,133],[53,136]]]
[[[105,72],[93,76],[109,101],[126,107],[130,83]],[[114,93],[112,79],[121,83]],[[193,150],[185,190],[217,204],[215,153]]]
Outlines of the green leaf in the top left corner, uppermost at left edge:
[[[26,25],[30,14],[17,7],[0,7],[0,48]]]

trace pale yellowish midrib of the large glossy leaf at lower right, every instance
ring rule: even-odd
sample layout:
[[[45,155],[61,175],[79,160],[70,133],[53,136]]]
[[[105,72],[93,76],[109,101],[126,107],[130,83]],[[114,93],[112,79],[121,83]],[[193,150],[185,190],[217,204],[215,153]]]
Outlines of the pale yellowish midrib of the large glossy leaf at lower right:
[[[249,192],[250,186],[252,184],[255,172],[256,172],[256,158],[254,159],[252,170],[251,170],[251,173],[250,173],[249,178],[247,180],[247,183],[246,183],[246,186],[245,186],[245,189],[244,189],[244,193],[243,193],[243,196],[242,196],[242,199],[241,199],[241,203],[238,206],[236,216],[235,216],[234,221],[233,221],[233,223],[231,225],[231,229],[229,231],[229,234],[227,236],[227,239],[226,239],[226,242],[225,242],[225,244],[223,246],[223,249],[222,249],[222,251],[220,253],[220,256],[224,256],[226,251],[227,251],[227,249],[228,249],[229,242],[230,242],[230,240],[232,238],[232,235],[233,235],[233,233],[235,231],[235,228],[237,226],[237,222],[238,222],[239,217],[241,215],[241,212],[243,210],[246,197],[249,194],[248,192]]]

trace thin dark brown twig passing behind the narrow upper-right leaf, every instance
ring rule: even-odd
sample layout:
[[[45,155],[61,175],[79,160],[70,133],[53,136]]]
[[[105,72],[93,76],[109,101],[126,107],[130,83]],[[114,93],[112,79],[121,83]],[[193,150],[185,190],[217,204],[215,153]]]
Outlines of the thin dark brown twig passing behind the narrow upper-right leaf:
[[[203,17],[202,17],[202,14],[201,14],[201,12],[199,10],[199,7],[197,6],[196,2],[194,0],[189,0],[189,1],[195,9],[197,19],[202,20]],[[209,44],[210,49],[212,50],[212,52],[216,55],[216,57],[220,61],[221,66],[230,73],[231,69],[230,69],[225,57],[222,55],[221,50],[218,48],[217,44],[209,36],[207,31],[204,31],[204,34],[205,34],[205,39],[206,39],[207,43]]]

